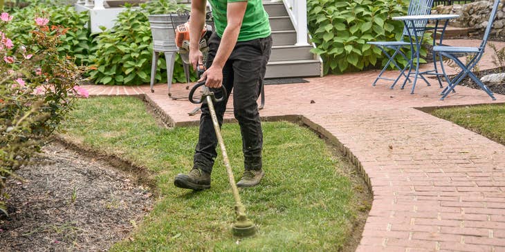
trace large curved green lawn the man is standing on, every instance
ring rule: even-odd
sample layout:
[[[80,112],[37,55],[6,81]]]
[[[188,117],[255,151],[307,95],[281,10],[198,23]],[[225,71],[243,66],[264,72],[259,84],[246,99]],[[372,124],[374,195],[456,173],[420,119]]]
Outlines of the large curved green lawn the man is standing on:
[[[159,199],[131,239],[111,251],[337,251],[356,219],[356,197],[342,163],[311,130],[288,122],[264,123],[264,170],[260,186],[241,190],[259,235],[237,241],[233,198],[221,157],[208,191],[173,185],[192,167],[198,128],[158,126],[139,99],[80,99],[66,137],[116,153],[156,174]],[[243,171],[237,124],[223,126],[230,162]]]

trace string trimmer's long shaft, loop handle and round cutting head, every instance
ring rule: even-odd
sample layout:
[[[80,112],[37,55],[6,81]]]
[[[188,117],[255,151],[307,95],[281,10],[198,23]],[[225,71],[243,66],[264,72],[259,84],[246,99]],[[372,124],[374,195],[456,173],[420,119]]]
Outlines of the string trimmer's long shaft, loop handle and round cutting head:
[[[201,71],[199,70],[199,73]],[[202,87],[201,99],[193,99],[194,92],[199,87]],[[214,92],[205,86],[205,80],[197,83],[193,86],[190,91],[190,101],[194,104],[207,103],[210,110],[210,117],[212,117],[212,124],[214,125],[214,131],[216,132],[217,142],[219,147],[221,147],[221,153],[223,154],[223,162],[226,167],[226,173],[228,173],[228,181],[230,186],[232,186],[233,197],[235,198],[235,214],[237,215],[237,220],[232,225],[232,233],[237,237],[248,237],[256,234],[256,225],[248,219],[246,216],[246,207],[242,204],[239,195],[239,189],[235,184],[235,177],[233,177],[232,167],[230,166],[230,160],[228,159],[228,154],[226,153],[226,147],[224,146],[223,137],[221,136],[221,129],[219,128],[219,123],[217,122],[216,110],[214,110],[214,102],[226,102],[226,88],[221,86],[222,97],[217,99]]]

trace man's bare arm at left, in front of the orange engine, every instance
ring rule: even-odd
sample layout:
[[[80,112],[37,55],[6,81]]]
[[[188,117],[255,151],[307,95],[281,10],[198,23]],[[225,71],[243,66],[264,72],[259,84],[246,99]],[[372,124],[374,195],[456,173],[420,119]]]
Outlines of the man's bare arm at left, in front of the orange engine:
[[[201,63],[203,55],[200,52],[200,38],[203,25],[205,24],[205,8],[207,0],[191,1],[191,16],[190,16],[190,62],[193,69],[196,70],[196,65]]]

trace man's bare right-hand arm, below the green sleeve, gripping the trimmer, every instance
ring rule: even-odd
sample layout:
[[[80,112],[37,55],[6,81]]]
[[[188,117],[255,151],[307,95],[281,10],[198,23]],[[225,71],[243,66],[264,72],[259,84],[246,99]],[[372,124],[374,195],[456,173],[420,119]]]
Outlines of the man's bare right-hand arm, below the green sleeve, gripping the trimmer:
[[[224,29],[216,57],[214,57],[214,61],[212,61],[212,66],[204,72],[201,78],[201,80],[207,79],[207,81],[205,81],[205,86],[210,88],[221,87],[221,82],[223,81],[223,66],[228,60],[228,57],[230,57],[233,48],[235,48],[246,9],[246,0],[228,3],[226,10],[228,23]]]

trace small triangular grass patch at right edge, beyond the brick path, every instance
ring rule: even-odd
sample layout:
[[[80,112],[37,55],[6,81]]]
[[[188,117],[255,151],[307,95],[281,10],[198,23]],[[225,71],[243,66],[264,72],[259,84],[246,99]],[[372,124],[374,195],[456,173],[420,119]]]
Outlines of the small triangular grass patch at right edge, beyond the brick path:
[[[441,108],[434,110],[432,115],[505,144],[505,105],[503,104]]]

